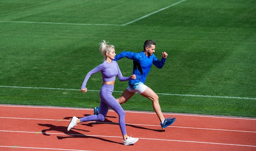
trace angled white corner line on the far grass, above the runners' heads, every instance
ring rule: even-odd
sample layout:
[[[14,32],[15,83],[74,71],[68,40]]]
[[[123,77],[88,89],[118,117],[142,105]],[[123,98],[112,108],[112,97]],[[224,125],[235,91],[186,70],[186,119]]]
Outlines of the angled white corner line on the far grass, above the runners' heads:
[[[141,18],[137,18],[137,19],[132,20],[132,21],[130,21],[130,22],[127,22],[127,23],[125,23],[125,24],[75,24],[75,23],[61,23],[61,22],[26,22],[26,21],[0,21],[0,22],[36,23],[36,24],[67,24],[67,25],[94,25],[94,26],[126,26],[126,25],[128,25],[128,24],[131,24],[131,23],[133,23],[133,22],[136,22],[136,21],[138,21],[138,20],[141,20],[141,19],[143,19],[143,18],[146,18],[146,17],[148,17],[148,16],[150,16],[150,15],[153,15],[153,14],[155,14],[155,13],[158,13],[159,11],[163,11],[164,9],[168,9],[169,7],[172,7],[172,6],[174,6],[174,5],[180,4],[181,2],[184,2],[184,1],[186,1],[186,0],[181,0],[181,1],[179,1],[179,2],[176,2],[176,3],[174,3],[174,4],[171,4],[171,5],[167,6],[167,7],[164,7],[164,8],[162,8],[162,9],[157,10],[157,11],[154,11],[154,12],[152,12],[152,13],[149,13],[149,14],[147,14],[147,15],[145,15],[145,16],[142,16]]]

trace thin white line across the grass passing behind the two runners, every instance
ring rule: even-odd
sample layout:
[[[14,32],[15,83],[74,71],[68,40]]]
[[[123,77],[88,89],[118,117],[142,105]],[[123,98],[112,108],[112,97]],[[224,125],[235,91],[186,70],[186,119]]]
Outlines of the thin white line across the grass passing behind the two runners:
[[[45,87],[16,87],[16,86],[2,86],[2,85],[0,87],[19,88],[19,89],[51,89],[51,90],[81,91],[80,89],[62,89],[62,88],[45,88]],[[88,91],[99,92],[99,90],[88,90]],[[113,91],[113,92],[123,93],[123,91]],[[176,95],[176,96],[188,96],[188,97],[232,98],[232,99],[256,100],[256,98],[233,97],[233,96],[191,95],[191,94],[172,94],[172,93],[157,93],[157,95]]]

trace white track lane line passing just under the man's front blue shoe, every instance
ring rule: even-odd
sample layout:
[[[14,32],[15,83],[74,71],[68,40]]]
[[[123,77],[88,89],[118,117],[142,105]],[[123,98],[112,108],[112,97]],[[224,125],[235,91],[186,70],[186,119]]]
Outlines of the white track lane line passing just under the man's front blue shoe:
[[[70,120],[54,120],[54,119],[40,119],[40,118],[12,118],[12,117],[0,117],[0,118],[7,118],[7,119],[21,119],[21,120],[51,120],[51,121],[67,121],[70,122]],[[94,123],[92,122],[87,122],[87,123]],[[102,123],[102,124],[118,124],[115,122],[97,122],[97,123]],[[148,127],[159,127],[159,125],[149,125],[149,124],[130,124],[126,123],[126,126],[129,125],[134,125],[134,126],[148,126]],[[175,128],[180,128],[180,129],[204,129],[204,130],[212,130],[212,131],[234,131],[234,132],[243,132],[243,133],[256,133],[256,131],[241,131],[241,130],[231,130],[231,129],[209,129],[209,128],[200,128],[200,127],[177,127],[177,126],[170,126],[170,127],[175,127]]]

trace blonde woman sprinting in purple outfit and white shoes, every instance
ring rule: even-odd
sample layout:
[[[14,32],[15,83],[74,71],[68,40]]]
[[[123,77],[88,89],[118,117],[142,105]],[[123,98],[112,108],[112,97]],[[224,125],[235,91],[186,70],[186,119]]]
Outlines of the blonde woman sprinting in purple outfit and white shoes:
[[[98,115],[89,115],[83,118],[76,118],[75,116],[70,121],[70,124],[67,127],[67,131],[69,131],[72,127],[76,126],[78,123],[87,122],[87,121],[104,121],[105,117],[108,113],[108,109],[111,108],[119,115],[119,127],[121,129],[123,135],[123,143],[124,145],[130,145],[137,142],[138,138],[129,137],[126,133],[126,124],[125,124],[125,112],[121,105],[117,102],[117,100],[112,95],[114,90],[115,78],[118,76],[120,81],[128,81],[132,79],[136,79],[135,75],[131,75],[130,77],[123,77],[119,66],[115,59],[115,47],[113,45],[108,45],[105,40],[100,43],[99,51],[105,57],[105,60],[102,64],[92,69],[87,73],[85,79],[83,81],[81,91],[83,93],[87,92],[86,83],[89,80],[90,76],[94,73],[101,71],[103,84],[101,87],[101,91],[99,92],[99,96],[101,98],[100,102],[100,111]]]

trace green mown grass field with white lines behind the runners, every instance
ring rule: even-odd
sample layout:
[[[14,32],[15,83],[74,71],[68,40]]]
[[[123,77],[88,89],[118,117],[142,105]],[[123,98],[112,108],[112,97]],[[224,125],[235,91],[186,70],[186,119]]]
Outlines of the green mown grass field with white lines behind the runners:
[[[255,0],[0,0],[0,104],[92,108],[104,39],[121,51],[156,42],[146,85],[163,112],[256,117]],[[118,61],[124,76],[132,60]],[[117,98],[128,82],[116,81]],[[47,88],[47,89],[46,89]],[[153,111],[135,94],[125,110]]]

